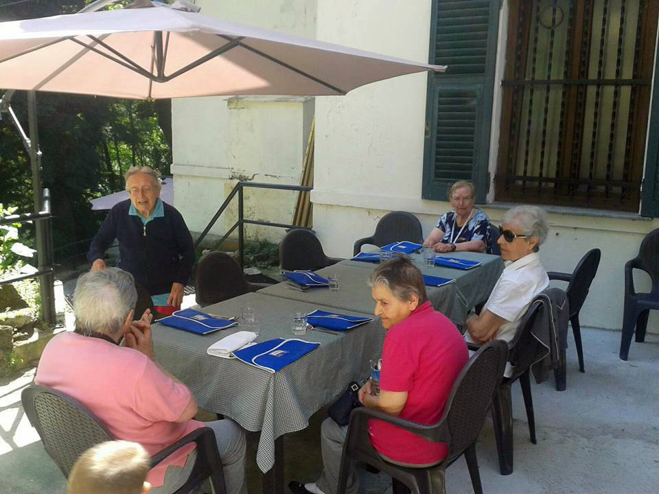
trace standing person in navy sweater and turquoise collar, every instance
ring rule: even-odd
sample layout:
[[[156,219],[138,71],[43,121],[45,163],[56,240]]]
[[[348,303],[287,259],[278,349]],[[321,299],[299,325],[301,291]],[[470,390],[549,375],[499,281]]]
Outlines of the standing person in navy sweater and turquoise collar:
[[[119,268],[146,287],[159,311],[171,313],[181,306],[183,287],[195,255],[183,216],[160,199],[160,176],[150,167],[126,172],[130,199],[110,210],[89,246],[92,270],[105,268],[105,251],[117,239]]]

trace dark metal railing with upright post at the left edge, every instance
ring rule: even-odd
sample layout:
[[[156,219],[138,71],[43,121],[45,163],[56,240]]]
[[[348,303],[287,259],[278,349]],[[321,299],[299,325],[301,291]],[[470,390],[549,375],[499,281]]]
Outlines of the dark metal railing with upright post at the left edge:
[[[24,279],[38,278],[39,293],[41,294],[41,318],[50,325],[56,322],[55,314],[55,290],[54,290],[54,266],[53,266],[53,242],[51,236],[51,213],[50,213],[50,191],[43,189],[43,209],[38,213],[23,213],[0,217],[0,224],[21,223],[27,221],[43,222],[43,233],[38,242],[43,245],[37,246],[38,268],[36,272],[21,274],[9,279],[0,280],[0,285],[8,285]]]

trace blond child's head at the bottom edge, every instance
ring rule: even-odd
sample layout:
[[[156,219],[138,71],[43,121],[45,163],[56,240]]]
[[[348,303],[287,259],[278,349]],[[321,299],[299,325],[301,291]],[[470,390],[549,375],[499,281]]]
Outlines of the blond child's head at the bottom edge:
[[[150,469],[146,450],[137,443],[107,441],[87,449],[69,474],[67,494],[146,494]]]

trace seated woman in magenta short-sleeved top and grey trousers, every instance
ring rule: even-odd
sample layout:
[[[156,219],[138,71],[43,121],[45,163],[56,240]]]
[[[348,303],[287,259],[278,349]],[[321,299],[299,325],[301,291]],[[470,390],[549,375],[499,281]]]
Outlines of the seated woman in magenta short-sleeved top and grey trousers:
[[[469,358],[467,345],[453,323],[432,309],[424,279],[410,261],[388,261],[371,274],[375,316],[387,330],[382,346],[380,394],[371,381],[359,390],[362,405],[421,424],[437,423],[456,377]],[[289,484],[294,494],[334,494],[338,486],[347,425],[325,419],[321,427],[323,473],[317,482]],[[371,443],[380,456],[404,464],[432,464],[446,458],[448,447],[382,421],[369,425]],[[358,491],[354,467],[346,493]]]

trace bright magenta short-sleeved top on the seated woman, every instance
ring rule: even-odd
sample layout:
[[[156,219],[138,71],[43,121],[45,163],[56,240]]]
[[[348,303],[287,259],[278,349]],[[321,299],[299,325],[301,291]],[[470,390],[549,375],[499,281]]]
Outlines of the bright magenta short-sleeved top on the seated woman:
[[[467,360],[467,345],[458,329],[426,302],[387,332],[380,390],[408,393],[402,419],[437,423]],[[448,454],[445,443],[433,443],[382,421],[370,421],[369,433],[373,447],[397,462],[428,464]]]

